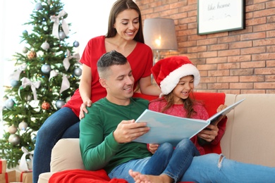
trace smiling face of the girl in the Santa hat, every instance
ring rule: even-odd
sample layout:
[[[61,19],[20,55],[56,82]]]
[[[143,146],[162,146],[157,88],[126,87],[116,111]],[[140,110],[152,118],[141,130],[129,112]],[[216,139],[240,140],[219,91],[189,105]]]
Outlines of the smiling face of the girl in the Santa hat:
[[[176,87],[173,89],[174,103],[181,104],[183,101],[181,99],[187,99],[190,92],[194,89],[194,76],[188,75],[181,77]]]

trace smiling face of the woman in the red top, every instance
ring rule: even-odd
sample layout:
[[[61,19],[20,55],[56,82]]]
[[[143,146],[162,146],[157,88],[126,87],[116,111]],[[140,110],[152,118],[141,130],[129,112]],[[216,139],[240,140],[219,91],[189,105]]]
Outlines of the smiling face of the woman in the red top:
[[[127,9],[118,13],[114,28],[119,36],[126,40],[133,40],[140,27],[138,12]]]

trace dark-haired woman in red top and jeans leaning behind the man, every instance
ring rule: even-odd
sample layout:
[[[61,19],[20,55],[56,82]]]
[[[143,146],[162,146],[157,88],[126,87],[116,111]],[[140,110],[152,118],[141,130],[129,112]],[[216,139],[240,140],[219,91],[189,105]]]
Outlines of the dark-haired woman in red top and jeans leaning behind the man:
[[[135,78],[135,87],[143,94],[159,95],[160,89],[151,83],[152,50],[144,44],[140,9],[132,0],[118,0],[111,8],[106,36],[90,39],[80,62],[80,87],[63,108],[51,115],[37,132],[33,159],[33,182],[42,172],[49,172],[51,149],[61,138],[78,138],[79,121],[86,106],[106,96],[99,84],[97,61],[104,53],[116,50],[126,56]],[[79,115],[79,118],[78,118]]]

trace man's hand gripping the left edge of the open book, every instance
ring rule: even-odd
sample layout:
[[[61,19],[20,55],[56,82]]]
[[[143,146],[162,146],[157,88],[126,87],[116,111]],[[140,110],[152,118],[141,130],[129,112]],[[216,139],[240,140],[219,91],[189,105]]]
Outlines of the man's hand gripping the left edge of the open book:
[[[114,131],[114,139],[118,143],[126,143],[137,139],[149,131],[146,122],[135,122],[135,120],[121,121]]]

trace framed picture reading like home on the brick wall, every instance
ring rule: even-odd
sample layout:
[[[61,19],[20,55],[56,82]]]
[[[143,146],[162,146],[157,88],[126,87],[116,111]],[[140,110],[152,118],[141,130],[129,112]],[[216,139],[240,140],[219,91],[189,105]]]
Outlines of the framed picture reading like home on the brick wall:
[[[197,0],[197,34],[245,29],[245,0]]]

